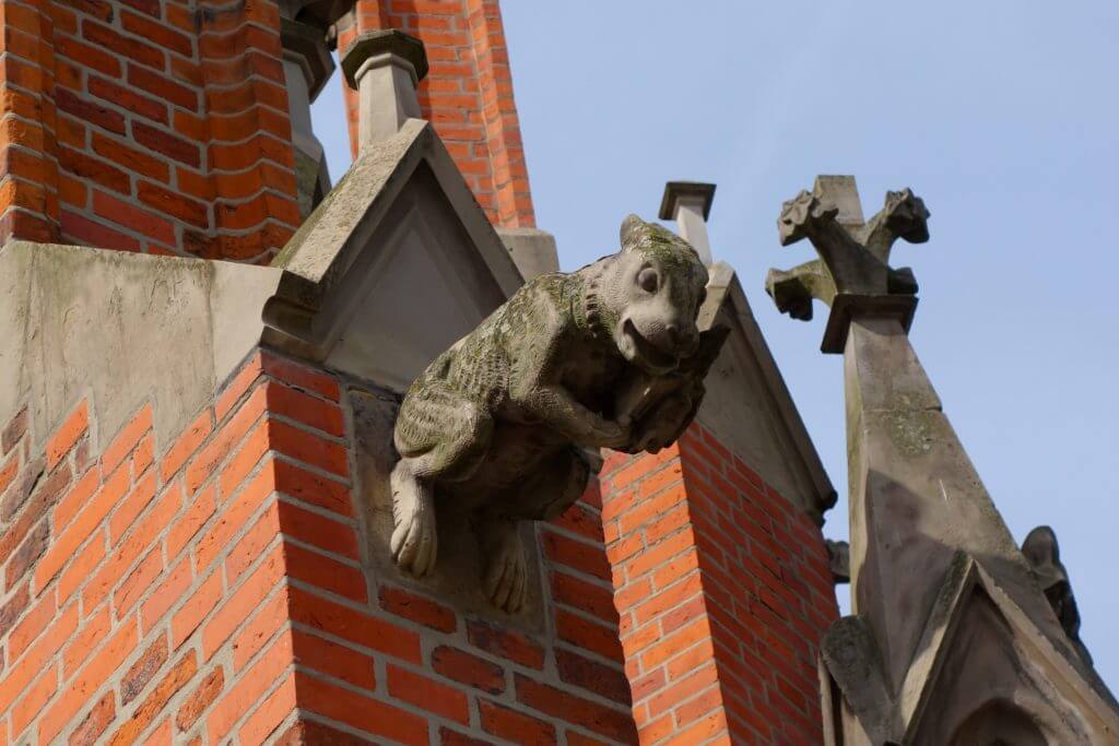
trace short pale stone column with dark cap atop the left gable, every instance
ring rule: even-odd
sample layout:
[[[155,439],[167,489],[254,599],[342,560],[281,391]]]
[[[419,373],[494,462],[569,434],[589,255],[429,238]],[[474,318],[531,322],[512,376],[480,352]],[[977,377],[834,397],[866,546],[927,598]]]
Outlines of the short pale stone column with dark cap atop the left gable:
[[[407,119],[420,119],[416,86],[427,75],[423,41],[395,29],[367,31],[349,46],[341,65],[358,92],[361,147],[393,136]]]

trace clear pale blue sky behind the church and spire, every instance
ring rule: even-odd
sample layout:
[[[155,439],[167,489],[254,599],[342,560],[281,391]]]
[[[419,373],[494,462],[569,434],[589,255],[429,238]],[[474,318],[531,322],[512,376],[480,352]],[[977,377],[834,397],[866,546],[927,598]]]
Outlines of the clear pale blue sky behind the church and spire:
[[[1119,3],[986,0],[505,0],[538,226],[565,270],[617,249],[664,182],[718,185],[709,230],[735,267],[840,492],[840,358],[763,291],[782,200],[853,173],[867,216],[910,186],[931,240],[911,339],[1019,541],[1057,533],[1103,679],[1119,689]],[[336,75],[316,104],[348,166]],[[844,592],[845,593],[845,589]]]

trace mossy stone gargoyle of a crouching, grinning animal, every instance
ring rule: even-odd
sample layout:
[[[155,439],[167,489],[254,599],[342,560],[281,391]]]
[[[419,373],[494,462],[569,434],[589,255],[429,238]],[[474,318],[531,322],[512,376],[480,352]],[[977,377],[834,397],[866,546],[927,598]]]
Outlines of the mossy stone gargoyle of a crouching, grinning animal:
[[[692,422],[727,333],[696,327],[707,270],[685,240],[637,216],[621,244],[524,285],[408,388],[391,478],[402,570],[434,567],[439,506],[453,501],[472,516],[483,591],[518,612],[528,574],[517,526],[580,498],[584,448],[656,453]]]

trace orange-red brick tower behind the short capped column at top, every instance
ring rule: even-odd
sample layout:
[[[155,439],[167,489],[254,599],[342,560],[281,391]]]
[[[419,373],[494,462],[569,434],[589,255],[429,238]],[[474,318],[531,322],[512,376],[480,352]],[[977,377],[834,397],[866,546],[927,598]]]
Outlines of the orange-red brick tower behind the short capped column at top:
[[[361,31],[395,28],[423,40],[431,70],[420,107],[467,178],[490,221],[534,227],[528,169],[513,98],[513,76],[497,0],[357,0],[338,36],[346,49]],[[357,152],[357,96],[347,89]]]

